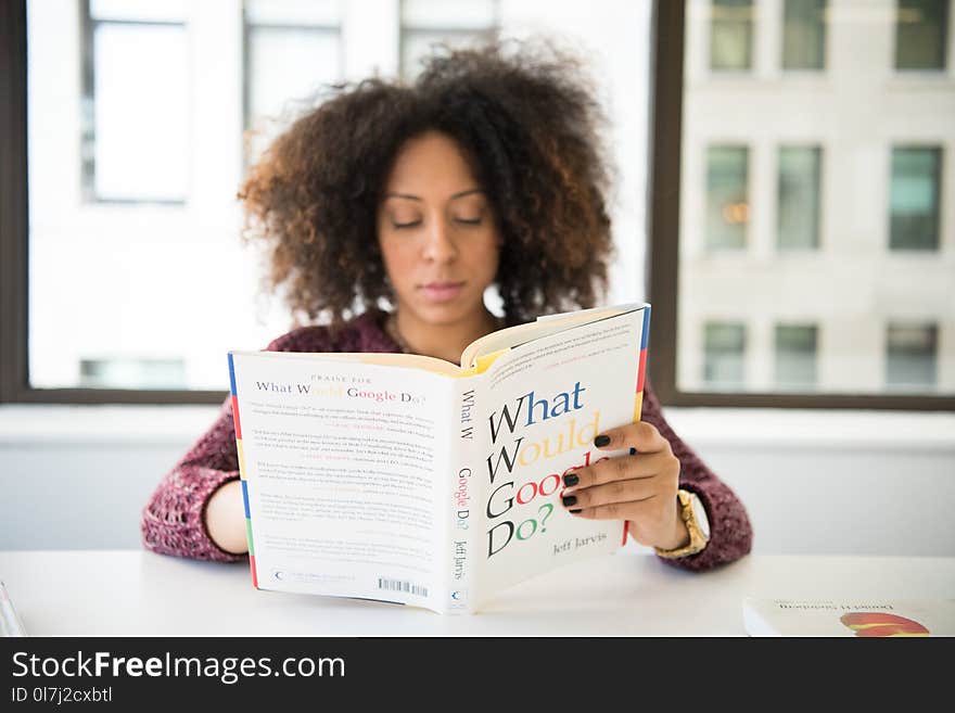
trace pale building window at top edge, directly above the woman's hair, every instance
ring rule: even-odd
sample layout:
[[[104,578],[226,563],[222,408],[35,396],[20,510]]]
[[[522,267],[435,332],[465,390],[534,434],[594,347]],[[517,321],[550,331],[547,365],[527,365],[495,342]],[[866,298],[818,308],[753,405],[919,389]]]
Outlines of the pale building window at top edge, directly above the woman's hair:
[[[491,39],[498,0],[402,0],[402,76],[413,79],[435,44],[453,49]]]

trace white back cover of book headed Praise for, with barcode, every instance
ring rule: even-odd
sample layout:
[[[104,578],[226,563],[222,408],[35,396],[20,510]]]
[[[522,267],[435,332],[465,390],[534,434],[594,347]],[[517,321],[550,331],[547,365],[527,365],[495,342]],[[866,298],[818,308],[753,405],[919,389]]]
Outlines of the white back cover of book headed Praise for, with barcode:
[[[255,584],[441,607],[456,380],[324,356],[230,354]]]

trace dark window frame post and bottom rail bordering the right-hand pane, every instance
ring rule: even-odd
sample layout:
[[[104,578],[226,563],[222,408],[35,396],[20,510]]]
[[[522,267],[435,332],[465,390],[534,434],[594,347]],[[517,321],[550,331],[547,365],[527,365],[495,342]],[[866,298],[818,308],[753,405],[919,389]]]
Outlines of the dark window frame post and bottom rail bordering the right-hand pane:
[[[653,305],[648,369],[658,397],[667,406],[687,407],[955,410],[955,396],[947,395],[712,393],[678,389],[676,341],[686,1],[658,1],[652,21],[653,106],[645,269],[648,301]]]

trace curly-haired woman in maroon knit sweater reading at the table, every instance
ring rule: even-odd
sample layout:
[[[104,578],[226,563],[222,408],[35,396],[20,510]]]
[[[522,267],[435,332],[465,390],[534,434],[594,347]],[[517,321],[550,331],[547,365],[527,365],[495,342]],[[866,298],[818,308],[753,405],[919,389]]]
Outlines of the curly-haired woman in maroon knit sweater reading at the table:
[[[433,56],[412,86],[338,88],[240,192],[251,238],[270,247],[270,287],[304,320],[329,321],[268,348],[457,361],[505,324],[593,306],[611,252],[601,123],[578,65],[552,50],[458,51]],[[484,304],[489,285],[502,318]],[[750,551],[746,509],[673,432],[649,384],[642,422],[595,445],[632,455],[568,474],[570,512],[626,520],[638,543],[684,569]],[[143,510],[145,546],[241,559],[238,478],[227,399]]]

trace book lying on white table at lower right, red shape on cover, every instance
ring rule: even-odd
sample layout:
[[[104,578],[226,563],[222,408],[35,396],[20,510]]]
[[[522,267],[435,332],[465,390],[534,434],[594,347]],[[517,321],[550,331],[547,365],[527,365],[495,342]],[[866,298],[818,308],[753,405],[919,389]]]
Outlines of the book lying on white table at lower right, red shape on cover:
[[[743,600],[750,636],[955,636],[955,599]]]

